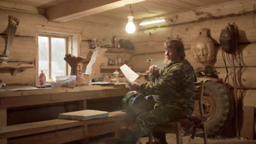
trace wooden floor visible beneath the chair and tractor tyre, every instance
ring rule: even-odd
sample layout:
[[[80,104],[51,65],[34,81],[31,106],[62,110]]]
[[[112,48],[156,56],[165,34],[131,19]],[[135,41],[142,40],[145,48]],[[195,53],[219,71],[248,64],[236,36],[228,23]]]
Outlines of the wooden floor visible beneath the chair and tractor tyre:
[[[167,134],[166,139],[168,144],[176,144],[175,134]],[[189,142],[188,136],[182,138],[183,144],[203,144],[203,139],[201,137],[195,137],[195,139]],[[148,137],[141,138],[141,143],[144,144],[148,142]],[[256,140],[241,140],[237,139],[208,139],[208,144],[256,144]]]

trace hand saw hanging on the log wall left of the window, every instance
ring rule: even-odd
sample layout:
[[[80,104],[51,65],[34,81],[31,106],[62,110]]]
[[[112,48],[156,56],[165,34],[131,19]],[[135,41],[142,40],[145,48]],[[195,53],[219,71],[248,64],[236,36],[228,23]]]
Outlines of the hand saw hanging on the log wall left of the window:
[[[0,62],[2,62],[2,63],[7,63],[7,61],[8,61],[11,44],[13,44],[13,39],[15,37],[16,29],[19,26],[19,22],[20,22],[20,20],[18,20],[16,17],[9,16],[9,25],[8,25],[9,32],[8,32],[7,45],[5,46],[5,50],[4,50],[3,54],[2,55],[0,54]]]

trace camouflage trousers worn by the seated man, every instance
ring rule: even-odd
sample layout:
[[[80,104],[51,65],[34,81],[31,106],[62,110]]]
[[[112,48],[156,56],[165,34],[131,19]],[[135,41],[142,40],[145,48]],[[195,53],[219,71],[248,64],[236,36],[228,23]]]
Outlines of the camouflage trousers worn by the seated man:
[[[139,114],[127,129],[133,131],[139,138],[146,135],[156,125],[188,118],[191,114],[183,110],[173,109],[171,106],[158,105],[153,110]]]

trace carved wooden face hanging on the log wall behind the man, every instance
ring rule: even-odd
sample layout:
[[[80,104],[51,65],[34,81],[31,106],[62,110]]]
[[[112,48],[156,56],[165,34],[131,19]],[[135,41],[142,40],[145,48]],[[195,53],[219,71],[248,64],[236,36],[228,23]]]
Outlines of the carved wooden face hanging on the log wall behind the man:
[[[213,66],[215,60],[215,46],[209,37],[209,29],[202,29],[191,44],[192,56],[196,62]]]

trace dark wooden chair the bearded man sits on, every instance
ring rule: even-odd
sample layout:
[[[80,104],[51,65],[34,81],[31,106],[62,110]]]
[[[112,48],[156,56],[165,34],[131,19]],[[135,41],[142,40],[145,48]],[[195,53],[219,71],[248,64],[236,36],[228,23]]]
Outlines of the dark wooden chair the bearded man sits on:
[[[200,108],[200,118],[202,121],[202,129],[200,131],[197,131],[195,135],[203,134],[203,140],[205,144],[208,144],[207,142],[207,134],[206,134],[206,126],[203,122],[203,105],[202,105],[202,96],[203,96],[203,81],[200,83],[200,89],[197,90],[194,94],[194,99],[197,99],[199,102],[199,108]],[[156,127],[154,127],[152,130],[149,131],[149,144],[153,144],[153,131],[162,131],[165,133],[174,133],[176,134],[176,142],[177,144],[182,144],[182,123],[179,121],[176,122],[166,122],[163,124],[160,124]]]

